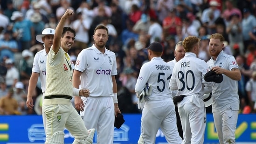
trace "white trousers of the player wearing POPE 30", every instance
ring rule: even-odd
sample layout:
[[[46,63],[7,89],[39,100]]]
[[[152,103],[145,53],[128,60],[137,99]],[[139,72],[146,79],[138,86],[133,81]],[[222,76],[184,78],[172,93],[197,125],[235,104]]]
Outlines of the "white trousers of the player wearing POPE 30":
[[[178,102],[178,111],[183,130],[182,144],[204,144],[206,110],[198,96],[186,96]]]

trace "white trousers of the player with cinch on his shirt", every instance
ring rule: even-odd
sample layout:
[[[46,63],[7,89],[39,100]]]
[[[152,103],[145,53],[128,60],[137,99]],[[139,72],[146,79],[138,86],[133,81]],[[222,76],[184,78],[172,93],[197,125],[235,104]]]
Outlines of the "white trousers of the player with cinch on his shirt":
[[[113,144],[115,110],[112,97],[82,97],[84,111],[80,111],[86,128],[97,130],[97,144]]]

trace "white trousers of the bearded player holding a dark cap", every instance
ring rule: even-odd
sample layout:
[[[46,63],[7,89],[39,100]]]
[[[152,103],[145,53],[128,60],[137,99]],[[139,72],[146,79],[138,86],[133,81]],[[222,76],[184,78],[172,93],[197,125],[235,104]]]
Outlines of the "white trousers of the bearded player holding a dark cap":
[[[220,144],[235,144],[235,130],[238,110],[223,110],[213,112],[214,125],[217,130]]]

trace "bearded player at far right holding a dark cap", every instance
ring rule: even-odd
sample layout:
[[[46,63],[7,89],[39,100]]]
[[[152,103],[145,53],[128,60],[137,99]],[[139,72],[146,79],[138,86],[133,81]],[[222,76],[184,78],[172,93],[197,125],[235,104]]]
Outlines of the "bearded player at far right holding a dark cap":
[[[241,72],[232,55],[224,54],[224,37],[221,34],[210,36],[211,59],[208,70],[223,75],[221,83],[213,83],[212,108],[214,124],[220,144],[235,144],[235,129],[239,113],[238,83]]]

